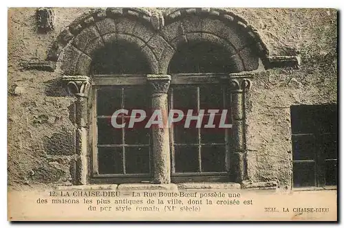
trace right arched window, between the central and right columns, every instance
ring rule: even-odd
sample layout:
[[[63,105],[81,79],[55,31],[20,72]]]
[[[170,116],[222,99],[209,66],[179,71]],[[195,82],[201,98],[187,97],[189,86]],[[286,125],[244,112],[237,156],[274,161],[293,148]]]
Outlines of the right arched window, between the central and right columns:
[[[173,56],[169,73],[171,85],[169,108],[203,109],[202,126],[196,120],[184,128],[184,120],[171,128],[172,181],[228,181],[230,171],[230,129],[219,128],[222,111],[227,110],[226,124],[230,124],[230,92],[228,83],[216,74],[235,71],[233,60],[226,50],[210,42],[190,42],[180,45]],[[208,110],[215,114],[215,128],[206,128]]]

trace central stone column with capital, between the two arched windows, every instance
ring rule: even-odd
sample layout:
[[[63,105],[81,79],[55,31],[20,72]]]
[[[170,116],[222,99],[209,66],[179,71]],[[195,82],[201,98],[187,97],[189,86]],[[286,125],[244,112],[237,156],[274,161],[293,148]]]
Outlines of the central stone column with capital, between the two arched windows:
[[[168,118],[167,92],[171,76],[148,75],[147,81],[151,89],[151,109],[161,110],[164,123]],[[153,183],[171,183],[171,159],[169,147],[169,126],[162,128],[153,126]]]

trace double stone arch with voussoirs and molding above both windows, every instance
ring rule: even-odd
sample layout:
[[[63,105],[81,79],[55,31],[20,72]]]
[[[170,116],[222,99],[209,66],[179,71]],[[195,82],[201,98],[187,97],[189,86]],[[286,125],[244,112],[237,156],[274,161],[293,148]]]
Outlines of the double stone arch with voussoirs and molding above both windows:
[[[127,41],[141,49],[151,73],[167,73],[176,49],[189,41],[209,41],[230,54],[235,71],[296,67],[297,56],[269,56],[257,30],[233,12],[217,8],[151,11],[143,8],[91,10],[78,17],[53,43],[48,61],[60,61],[65,75],[87,75],[92,54],[107,43]]]

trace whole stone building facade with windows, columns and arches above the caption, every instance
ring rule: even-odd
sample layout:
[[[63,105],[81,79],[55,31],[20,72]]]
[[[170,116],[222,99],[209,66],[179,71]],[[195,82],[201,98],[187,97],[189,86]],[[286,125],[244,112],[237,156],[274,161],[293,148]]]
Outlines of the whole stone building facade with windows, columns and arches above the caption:
[[[332,9],[11,8],[8,184],[336,185],[336,62]],[[145,133],[123,131],[111,141],[100,126],[116,102],[139,105],[144,97],[144,108],[168,111],[172,91],[174,102],[178,93],[198,94],[195,104],[203,94],[216,98],[204,88],[219,88],[230,106],[233,128],[211,150],[221,156],[204,157],[214,144],[201,144],[203,133],[182,149],[169,128],[153,128],[141,143]]]

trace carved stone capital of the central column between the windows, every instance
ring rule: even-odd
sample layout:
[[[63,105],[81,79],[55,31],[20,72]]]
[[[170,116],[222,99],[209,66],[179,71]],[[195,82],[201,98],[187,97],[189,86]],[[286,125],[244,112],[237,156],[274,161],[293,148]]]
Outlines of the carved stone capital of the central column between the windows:
[[[171,82],[171,76],[164,74],[149,74],[147,81],[151,89],[151,93],[167,93]]]

